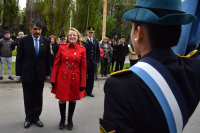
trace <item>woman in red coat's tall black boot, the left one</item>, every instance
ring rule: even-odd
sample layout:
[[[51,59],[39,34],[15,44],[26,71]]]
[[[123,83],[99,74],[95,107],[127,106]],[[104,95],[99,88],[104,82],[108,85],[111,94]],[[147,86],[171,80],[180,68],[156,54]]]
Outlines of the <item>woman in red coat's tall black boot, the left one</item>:
[[[60,124],[59,124],[59,129],[62,130],[65,127],[65,120],[66,120],[66,103],[60,104],[59,103],[59,108],[60,108]]]

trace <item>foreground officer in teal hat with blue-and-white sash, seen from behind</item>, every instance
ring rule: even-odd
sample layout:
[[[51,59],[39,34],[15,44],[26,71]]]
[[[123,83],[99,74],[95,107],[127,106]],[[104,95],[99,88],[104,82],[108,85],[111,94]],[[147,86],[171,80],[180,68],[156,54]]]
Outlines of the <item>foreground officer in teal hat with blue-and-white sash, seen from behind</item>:
[[[123,18],[142,58],[106,80],[101,132],[181,133],[200,100],[200,52],[180,57],[171,47],[196,17],[181,0],[138,0]]]

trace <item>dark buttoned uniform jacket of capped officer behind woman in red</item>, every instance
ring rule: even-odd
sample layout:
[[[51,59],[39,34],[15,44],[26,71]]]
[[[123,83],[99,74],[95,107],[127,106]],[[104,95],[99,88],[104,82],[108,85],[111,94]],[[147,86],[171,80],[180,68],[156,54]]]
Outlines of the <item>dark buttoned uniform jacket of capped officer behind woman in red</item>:
[[[94,39],[91,43],[87,40],[83,46],[86,48],[87,67],[96,67],[100,59],[99,42]]]

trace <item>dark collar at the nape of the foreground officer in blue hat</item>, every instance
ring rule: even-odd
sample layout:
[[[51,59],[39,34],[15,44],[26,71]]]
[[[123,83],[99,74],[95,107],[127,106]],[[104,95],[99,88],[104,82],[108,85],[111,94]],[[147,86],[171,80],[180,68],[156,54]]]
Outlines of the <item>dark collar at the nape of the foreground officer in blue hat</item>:
[[[170,47],[161,47],[154,49],[151,52],[147,53],[143,58],[152,57],[159,60],[167,56],[176,56]]]

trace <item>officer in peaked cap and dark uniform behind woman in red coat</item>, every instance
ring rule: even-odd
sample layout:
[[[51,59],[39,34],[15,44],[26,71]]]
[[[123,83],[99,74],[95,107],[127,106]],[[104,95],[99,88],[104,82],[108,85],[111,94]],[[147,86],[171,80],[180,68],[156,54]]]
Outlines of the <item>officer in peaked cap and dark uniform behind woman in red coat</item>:
[[[94,69],[98,66],[100,59],[99,42],[93,38],[94,27],[87,28],[87,39],[83,40],[83,46],[86,48],[87,57],[87,82],[86,82],[86,95],[94,97],[92,90],[94,87]]]

